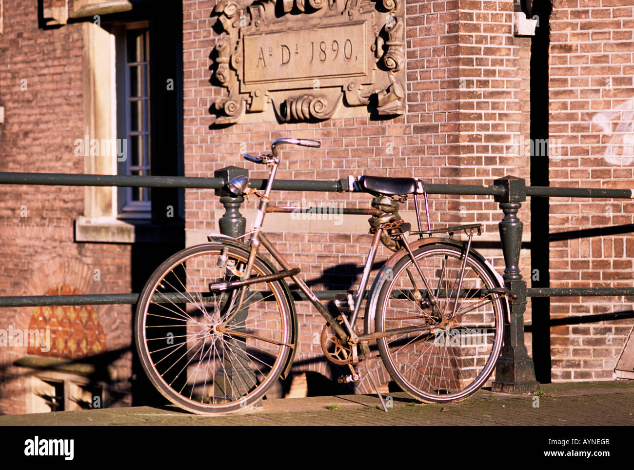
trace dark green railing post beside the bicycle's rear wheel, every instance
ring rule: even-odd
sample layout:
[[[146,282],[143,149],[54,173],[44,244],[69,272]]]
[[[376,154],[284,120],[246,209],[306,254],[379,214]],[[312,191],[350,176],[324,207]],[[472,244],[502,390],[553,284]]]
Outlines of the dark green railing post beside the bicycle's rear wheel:
[[[491,389],[503,393],[523,395],[539,391],[540,384],[535,379],[533,359],[528,355],[524,343],[524,311],[526,311],[526,281],[519,270],[519,256],[522,245],[524,224],[517,218],[517,211],[526,200],[526,181],[515,176],[505,176],[495,180],[495,185],[504,186],[505,193],[496,196],[504,218],[500,221],[500,240],[506,268],[505,287],[517,294],[510,302],[510,324],[504,325],[504,346],[495,369],[495,382]]]

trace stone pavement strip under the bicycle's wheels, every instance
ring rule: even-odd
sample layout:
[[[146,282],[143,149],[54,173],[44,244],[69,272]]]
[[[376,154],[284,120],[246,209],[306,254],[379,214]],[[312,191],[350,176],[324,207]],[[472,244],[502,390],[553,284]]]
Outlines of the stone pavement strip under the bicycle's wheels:
[[[482,389],[450,405],[421,405],[392,393],[385,413],[377,396],[264,400],[231,415],[191,415],[175,407],[106,408],[0,416],[0,426],[633,426],[634,381],[542,385],[540,396]],[[385,396],[385,395],[384,395]]]

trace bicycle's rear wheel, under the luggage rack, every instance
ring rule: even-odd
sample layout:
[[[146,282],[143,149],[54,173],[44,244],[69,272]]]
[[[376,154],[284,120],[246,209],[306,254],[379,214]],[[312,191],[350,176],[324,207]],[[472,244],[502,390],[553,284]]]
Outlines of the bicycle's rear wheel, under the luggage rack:
[[[386,369],[404,391],[421,401],[467,398],[488,380],[500,355],[503,306],[489,268],[448,244],[413,254],[427,282],[405,254],[378,286],[376,332],[401,329],[377,339]],[[425,285],[434,292],[432,308]],[[458,286],[460,293],[458,295]]]

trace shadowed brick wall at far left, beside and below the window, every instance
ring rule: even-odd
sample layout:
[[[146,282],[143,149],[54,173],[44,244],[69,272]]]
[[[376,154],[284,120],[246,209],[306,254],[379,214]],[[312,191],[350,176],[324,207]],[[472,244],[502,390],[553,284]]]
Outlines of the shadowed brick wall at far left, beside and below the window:
[[[39,29],[37,2],[5,0],[0,35],[0,171],[84,173],[74,141],[84,135],[81,24]],[[42,295],[58,284],[83,294],[131,292],[129,245],[76,244],[84,209],[77,186],[0,186],[0,295]],[[100,281],[94,281],[94,270]],[[131,344],[131,307],[95,307],[107,348]],[[34,308],[0,309],[0,328],[29,328]],[[0,348],[0,414],[23,413],[26,348]],[[122,391],[131,352],[117,362]],[[129,403],[129,397],[122,403]]]

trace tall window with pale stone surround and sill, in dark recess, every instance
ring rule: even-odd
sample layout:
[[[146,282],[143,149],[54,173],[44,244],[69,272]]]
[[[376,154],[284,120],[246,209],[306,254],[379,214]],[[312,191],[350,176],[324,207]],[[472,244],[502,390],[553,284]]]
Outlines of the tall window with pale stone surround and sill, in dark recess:
[[[84,154],[84,173],[182,176],[183,18],[180,2],[92,16],[84,37],[84,133],[115,151]],[[184,190],[86,186],[77,242],[184,238]],[[157,228],[160,227],[160,230]]]

